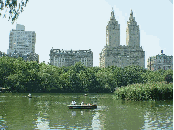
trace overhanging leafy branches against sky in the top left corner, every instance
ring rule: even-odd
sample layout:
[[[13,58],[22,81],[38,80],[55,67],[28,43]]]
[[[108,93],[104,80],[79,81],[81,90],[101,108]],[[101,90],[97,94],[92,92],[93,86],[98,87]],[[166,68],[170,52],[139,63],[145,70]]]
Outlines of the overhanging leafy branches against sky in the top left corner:
[[[0,0],[1,11],[4,10],[4,8],[6,8],[3,18],[6,18],[6,12],[8,12],[8,21],[12,20],[13,24],[15,20],[18,19],[19,14],[24,11],[24,7],[26,7],[28,1],[29,0],[25,0],[25,2],[23,2],[23,0],[21,0],[21,2],[17,2],[17,0]],[[2,14],[0,13],[0,16],[1,15]]]

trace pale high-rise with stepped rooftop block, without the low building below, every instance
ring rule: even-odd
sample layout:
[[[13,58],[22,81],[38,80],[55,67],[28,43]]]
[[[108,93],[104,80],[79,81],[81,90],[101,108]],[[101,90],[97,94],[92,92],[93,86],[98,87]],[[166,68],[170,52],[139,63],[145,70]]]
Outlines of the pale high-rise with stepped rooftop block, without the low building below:
[[[36,33],[35,31],[25,31],[25,26],[17,24],[16,30],[12,29],[9,35],[8,55],[15,53],[29,54],[35,53]]]

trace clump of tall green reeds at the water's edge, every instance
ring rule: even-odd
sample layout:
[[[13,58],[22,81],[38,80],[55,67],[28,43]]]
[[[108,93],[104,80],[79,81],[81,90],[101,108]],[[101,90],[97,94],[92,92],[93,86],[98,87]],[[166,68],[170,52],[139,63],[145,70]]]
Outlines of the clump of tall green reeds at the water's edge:
[[[148,82],[146,84],[132,84],[116,89],[115,99],[125,100],[169,100],[173,99],[173,83]]]

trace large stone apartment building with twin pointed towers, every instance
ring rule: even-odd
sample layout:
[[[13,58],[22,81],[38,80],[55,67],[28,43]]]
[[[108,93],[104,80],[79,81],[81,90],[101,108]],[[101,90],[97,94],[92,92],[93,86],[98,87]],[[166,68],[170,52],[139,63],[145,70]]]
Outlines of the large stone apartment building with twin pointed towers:
[[[139,25],[131,10],[126,28],[126,46],[120,45],[120,25],[116,21],[114,11],[106,26],[106,46],[99,54],[100,67],[139,65],[145,68],[145,51],[140,47]]]

